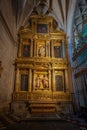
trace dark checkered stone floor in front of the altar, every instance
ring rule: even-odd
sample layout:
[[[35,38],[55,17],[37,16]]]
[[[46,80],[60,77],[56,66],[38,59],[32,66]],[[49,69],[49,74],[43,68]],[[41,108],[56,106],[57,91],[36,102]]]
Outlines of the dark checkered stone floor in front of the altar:
[[[87,130],[87,122],[76,115],[0,115],[0,130]]]

